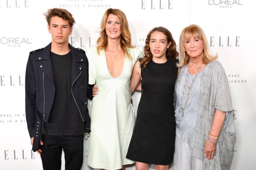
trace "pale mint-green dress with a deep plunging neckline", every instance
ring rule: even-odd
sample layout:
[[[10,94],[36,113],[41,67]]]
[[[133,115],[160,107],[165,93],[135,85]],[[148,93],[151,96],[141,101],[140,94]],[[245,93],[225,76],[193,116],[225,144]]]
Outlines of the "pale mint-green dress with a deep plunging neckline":
[[[86,50],[89,61],[89,84],[99,87],[91,104],[91,135],[88,138],[87,164],[92,168],[116,170],[134,163],[126,158],[135,123],[130,103],[130,77],[138,58],[137,48],[129,49],[133,60],[124,59],[121,75],[113,78],[108,71],[105,51],[98,56],[96,46]]]

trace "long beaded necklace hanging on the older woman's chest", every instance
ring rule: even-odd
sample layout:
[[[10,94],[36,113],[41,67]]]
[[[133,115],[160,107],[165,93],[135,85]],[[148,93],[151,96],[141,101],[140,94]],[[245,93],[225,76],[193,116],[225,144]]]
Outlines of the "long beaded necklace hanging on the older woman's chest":
[[[203,64],[203,61],[201,60],[201,63],[200,63],[200,65],[199,65],[198,69],[197,69],[197,72],[196,72],[196,74],[194,75],[194,77],[193,77],[193,79],[192,79],[192,81],[191,81],[191,83],[190,83],[190,86],[188,87],[188,91],[186,92],[186,85],[187,85],[188,73],[190,73],[191,59],[190,59],[189,62],[188,62],[188,69],[187,69],[186,79],[185,79],[185,83],[184,83],[183,91],[182,91],[182,95],[181,95],[181,116],[182,116],[182,117],[183,117],[183,115],[184,115],[183,112],[184,112],[185,108],[187,107],[187,101],[188,101],[188,97],[189,97],[189,93],[190,93],[191,86],[192,86],[192,84],[194,83],[194,79],[196,79],[196,77],[197,77],[197,75],[198,75],[198,73],[199,73],[199,71],[200,71],[200,69],[201,69],[202,64]],[[183,103],[183,97],[184,97],[184,95],[186,95],[186,97],[185,97],[185,101],[184,101],[184,103]]]

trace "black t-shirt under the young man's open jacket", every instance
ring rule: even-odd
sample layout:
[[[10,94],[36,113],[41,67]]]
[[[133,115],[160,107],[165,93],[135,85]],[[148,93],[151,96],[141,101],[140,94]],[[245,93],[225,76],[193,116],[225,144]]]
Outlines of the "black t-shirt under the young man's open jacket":
[[[78,136],[84,134],[84,122],[71,93],[72,54],[50,52],[55,96],[48,123],[42,121],[41,133],[50,136]]]

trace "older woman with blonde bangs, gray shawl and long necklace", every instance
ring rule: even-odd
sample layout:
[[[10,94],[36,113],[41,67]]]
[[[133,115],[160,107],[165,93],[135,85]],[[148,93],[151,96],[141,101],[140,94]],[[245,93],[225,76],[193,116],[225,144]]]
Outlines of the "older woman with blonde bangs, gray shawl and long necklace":
[[[208,51],[197,25],[180,35],[180,73],[175,84],[175,170],[228,168],[235,134],[234,109],[225,71]]]

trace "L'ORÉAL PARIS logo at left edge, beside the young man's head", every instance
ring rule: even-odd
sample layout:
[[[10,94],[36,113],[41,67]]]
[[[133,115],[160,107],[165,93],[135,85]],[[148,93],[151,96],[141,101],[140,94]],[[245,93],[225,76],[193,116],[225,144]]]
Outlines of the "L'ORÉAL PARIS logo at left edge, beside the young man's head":
[[[7,47],[21,47],[23,44],[32,44],[32,38],[0,37],[0,46],[6,45]]]

